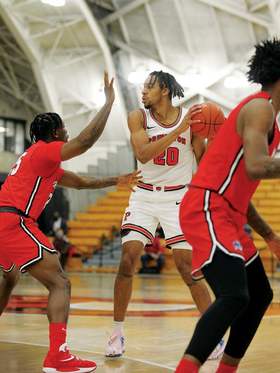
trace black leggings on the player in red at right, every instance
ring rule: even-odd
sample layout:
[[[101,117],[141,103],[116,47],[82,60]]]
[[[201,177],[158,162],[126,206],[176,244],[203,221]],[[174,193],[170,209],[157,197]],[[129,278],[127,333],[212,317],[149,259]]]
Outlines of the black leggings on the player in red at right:
[[[230,327],[225,353],[242,358],[273,298],[261,259],[245,267],[242,259],[217,249],[202,272],[216,300],[197,323],[185,353],[203,364]]]

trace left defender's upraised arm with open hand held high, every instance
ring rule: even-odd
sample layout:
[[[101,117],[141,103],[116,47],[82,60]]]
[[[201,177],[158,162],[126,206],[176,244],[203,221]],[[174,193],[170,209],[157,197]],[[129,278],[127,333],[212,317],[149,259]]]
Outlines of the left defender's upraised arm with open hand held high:
[[[106,102],[94,119],[92,119],[89,125],[86,126],[86,128],[83,129],[83,131],[77,137],[63,144],[61,148],[61,159],[63,161],[85,153],[99,139],[105,128],[115,99],[113,82],[114,78],[112,78],[111,82],[109,83],[108,72],[105,70],[104,92]]]

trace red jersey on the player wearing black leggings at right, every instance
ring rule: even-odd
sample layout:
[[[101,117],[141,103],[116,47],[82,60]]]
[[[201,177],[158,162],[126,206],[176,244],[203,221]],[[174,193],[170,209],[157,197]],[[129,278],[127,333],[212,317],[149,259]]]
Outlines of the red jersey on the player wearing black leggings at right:
[[[270,95],[260,92],[245,98],[221,126],[213,144],[207,150],[191,185],[209,189],[222,195],[231,206],[246,214],[260,180],[250,181],[245,170],[243,140],[236,132],[236,120],[242,107],[253,98],[265,98]],[[271,101],[272,104],[272,101]],[[280,132],[275,121],[274,137],[269,144],[269,155],[274,156],[280,141]]]

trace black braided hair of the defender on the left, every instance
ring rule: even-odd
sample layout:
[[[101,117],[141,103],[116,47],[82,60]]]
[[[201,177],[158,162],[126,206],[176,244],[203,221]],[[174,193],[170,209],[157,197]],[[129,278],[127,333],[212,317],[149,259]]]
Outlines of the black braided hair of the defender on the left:
[[[31,142],[46,140],[57,128],[62,128],[62,120],[57,113],[43,113],[35,116],[30,125]]]

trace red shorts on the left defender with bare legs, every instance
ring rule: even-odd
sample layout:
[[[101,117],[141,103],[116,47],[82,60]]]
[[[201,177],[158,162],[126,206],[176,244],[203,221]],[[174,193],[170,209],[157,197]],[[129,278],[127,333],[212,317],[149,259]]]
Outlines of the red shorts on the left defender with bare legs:
[[[43,258],[43,249],[57,253],[32,219],[10,212],[0,213],[0,267],[5,272],[16,264],[25,273],[29,264]]]

